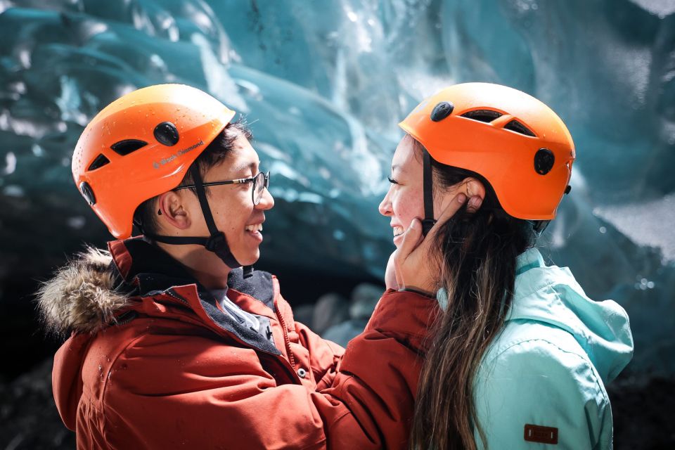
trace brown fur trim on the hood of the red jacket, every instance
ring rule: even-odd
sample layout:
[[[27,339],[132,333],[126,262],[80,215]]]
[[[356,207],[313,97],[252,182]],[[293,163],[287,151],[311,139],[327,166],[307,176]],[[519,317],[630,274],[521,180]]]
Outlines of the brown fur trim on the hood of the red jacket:
[[[129,295],[115,290],[112,260],[106,250],[86,248],[41,285],[37,304],[46,330],[64,336],[96,333],[113,321]]]

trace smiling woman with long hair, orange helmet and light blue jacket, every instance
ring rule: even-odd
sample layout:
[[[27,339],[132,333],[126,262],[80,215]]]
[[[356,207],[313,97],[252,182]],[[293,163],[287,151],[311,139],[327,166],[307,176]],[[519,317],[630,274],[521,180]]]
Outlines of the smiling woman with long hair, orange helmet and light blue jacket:
[[[565,124],[527,94],[470,83],[426,99],[400,126],[406,136],[380,204],[399,248],[387,287],[442,307],[411,447],[611,448],[604,383],[631,359],[628,317],[611,300],[590,300],[534,248],[570,192]],[[465,206],[434,226],[464,195]],[[416,261],[401,256],[414,247],[424,250]]]

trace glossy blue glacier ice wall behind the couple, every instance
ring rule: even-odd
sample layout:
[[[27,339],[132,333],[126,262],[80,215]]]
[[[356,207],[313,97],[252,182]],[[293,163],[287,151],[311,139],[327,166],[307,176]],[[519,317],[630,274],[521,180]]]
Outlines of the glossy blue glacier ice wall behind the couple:
[[[3,283],[105,239],[72,148],[107,103],[164,82],[250,122],[276,198],[264,261],[381,277],[397,122],[443,86],[497,82],[551,105],[577,146],[546,254],[626,308],[636,370],[675,373],[671,1],[0,0],[0,38]]]

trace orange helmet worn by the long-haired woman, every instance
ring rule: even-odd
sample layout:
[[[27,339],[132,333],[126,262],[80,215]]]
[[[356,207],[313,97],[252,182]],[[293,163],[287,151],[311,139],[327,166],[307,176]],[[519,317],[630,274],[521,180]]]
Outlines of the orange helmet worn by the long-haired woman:
[[[422,101],[399,126],[438,162],[484,176],[510,216],[551,220],[569,192],[570,131],[524,92],[456,84]]]

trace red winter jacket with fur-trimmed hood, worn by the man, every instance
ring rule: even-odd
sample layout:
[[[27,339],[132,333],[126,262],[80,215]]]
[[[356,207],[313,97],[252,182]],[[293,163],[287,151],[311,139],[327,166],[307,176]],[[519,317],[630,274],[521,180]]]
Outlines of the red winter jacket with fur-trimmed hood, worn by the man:
[[[46,322],[72,333],[53,392],[79,449],[406,448],[436,302],[387,291],[344,350],[295,322],[265,272],[229,278],[252,330],[162,250],[109,248],[41,290]]]

